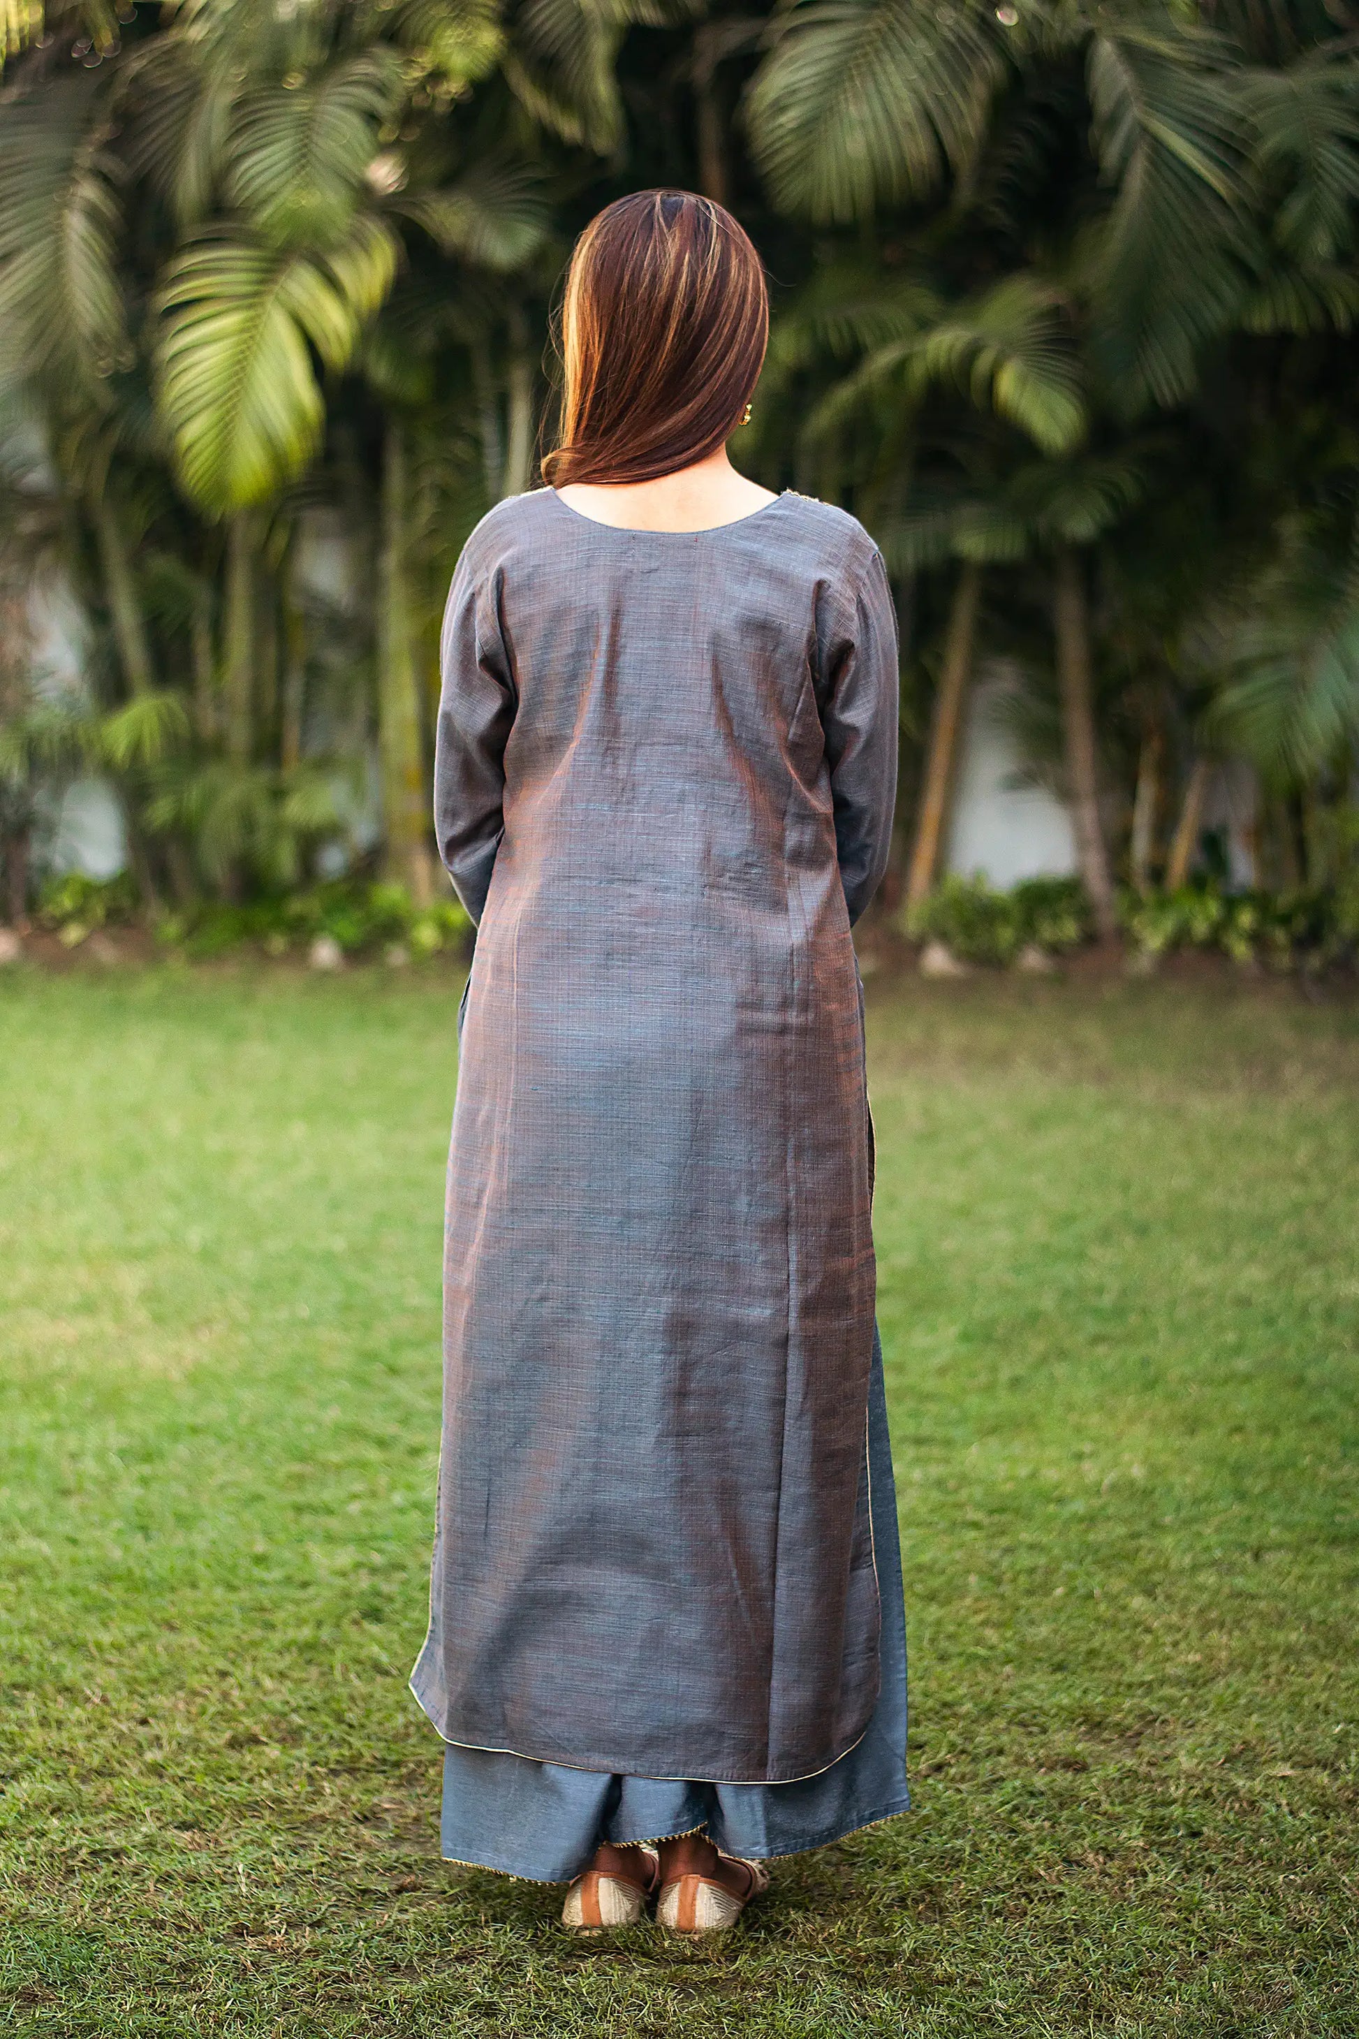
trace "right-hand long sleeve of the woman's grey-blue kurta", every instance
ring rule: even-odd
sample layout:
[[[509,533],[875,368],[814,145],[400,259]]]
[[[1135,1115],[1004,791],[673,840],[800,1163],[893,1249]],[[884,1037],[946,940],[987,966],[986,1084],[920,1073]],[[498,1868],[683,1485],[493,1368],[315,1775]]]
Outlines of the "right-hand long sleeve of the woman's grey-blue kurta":
[[[896,610],[882,555],[844,591],[825,646],[821,728],[835,805],[835,852],[850,926],[872,899],[892,842],[901,671]]]

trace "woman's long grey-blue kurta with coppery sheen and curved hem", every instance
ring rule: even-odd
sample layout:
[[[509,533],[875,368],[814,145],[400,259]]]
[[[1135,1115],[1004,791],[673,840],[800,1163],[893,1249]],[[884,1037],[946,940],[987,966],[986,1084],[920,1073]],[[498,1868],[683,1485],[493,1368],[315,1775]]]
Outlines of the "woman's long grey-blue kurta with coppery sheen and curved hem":
[[[805,495],[636,532],[542,489],[469,538],[442,673],[479,936],[412,1684],[448,1741],[809,1776],[878,1688],[850,924],[896,777],[882,559]]]

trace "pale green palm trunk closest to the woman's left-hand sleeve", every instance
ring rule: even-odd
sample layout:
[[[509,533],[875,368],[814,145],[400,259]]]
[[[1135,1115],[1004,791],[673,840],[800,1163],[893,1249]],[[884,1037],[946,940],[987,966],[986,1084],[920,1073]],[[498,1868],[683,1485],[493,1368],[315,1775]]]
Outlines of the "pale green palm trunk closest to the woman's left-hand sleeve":
[[[412,644],[405,563],[405,432],[387,420],[383,447],[383,540],[377,595],[377,726],[383,767],[387,877],[416,905],[430,901],[426,797],[420,759],[420,679]]]

